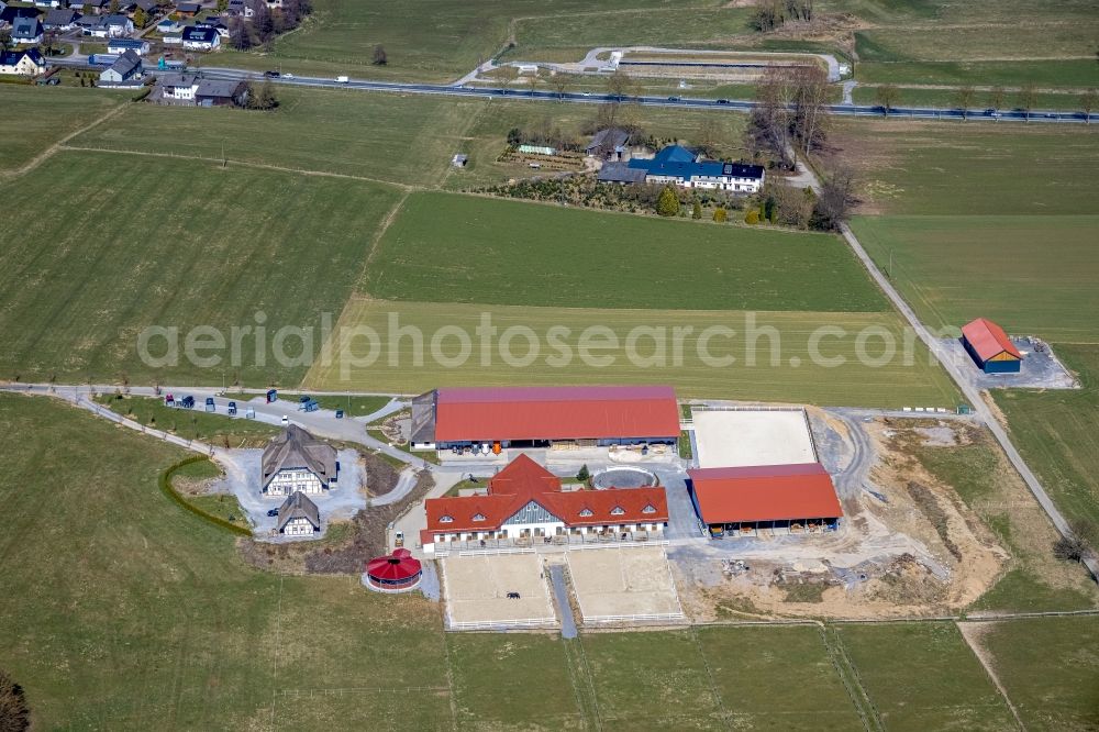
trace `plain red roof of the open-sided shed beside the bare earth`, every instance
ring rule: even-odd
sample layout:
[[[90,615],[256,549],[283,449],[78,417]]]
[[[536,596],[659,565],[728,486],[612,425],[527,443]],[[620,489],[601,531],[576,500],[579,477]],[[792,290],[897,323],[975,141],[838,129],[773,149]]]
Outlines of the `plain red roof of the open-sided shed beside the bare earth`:
[[[843,515],[820,463],[688,470],[707,523],[833,519]]]

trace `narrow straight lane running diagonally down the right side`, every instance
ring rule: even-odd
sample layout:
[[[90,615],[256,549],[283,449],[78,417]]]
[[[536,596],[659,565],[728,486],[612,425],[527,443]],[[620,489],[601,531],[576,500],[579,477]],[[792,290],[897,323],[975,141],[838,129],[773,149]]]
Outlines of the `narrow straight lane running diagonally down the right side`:
[[[798,174],[809,179],[811,181],[810,187],[818,193],[820,192],[820,181],[817,180],[817,176],[801,162],[798,163]],[[1030,489],[1031,493],[1034,495],[1034,498],[1042,507],[1042,510],[1048,514],[1050,520],[1057,529],[1057,532],[1062,536],[1069,535],[1072,530],[1069,529],[1065,517],[1062,515],[1056,504],[1054,504],[1053,499],[1050,498],[1050,495],[1045,492],[1042,484],[1026,465],[1022,455],[1020,455],[1019,451],[1015,450],[1015,446],[1011,443],[1011,439],[1008,436],[1007,430],[1004,430],[1003,425],[1001,425],[996,419],[992,410],[989,409],[988,404],[981,397],[980,391],[973,385],[970,379],[966,378],[965,375],[962,374],[958,363],[951,355],[951,351],[943,344],[942,340],[932,334],[931,331],[928,330],[922,322],[920,322],[915,311],[912,310],[908,302],[904,301],[904,298],[900,296],[900,292],[897,291],[897,288],[893,287],[889,278],[887,278],[885,274],[878,269],[878,266],[866,253],[866,249],[863,248],[863,245],[859,244],[858,239],[855,236],[854,232],[851,231],[851,228],[847,226],[847,224],[843,224],[841,233],[843,234],[843,239],[847,242],[847,245],[851,246],[851,249],[855,253],[855,256],[858,257],[859,262],[863,263],[863,266],[866,267],[866,270],[870,274],[870,277],[874,278],[874,281],[878,284],[878,287],[880,287],[886,296],[892,301],[893,307],[900,311],[915,334],[919,335],[920,340],[928,346],[928,350],[931,351],[946,373],[951,375],[951,378],[954,379],[954,382],[958,386],[963,396],[965,396],[966,400],[968,400],[968,402],[973,406],[975,414],[988,426],[989,432],[991,432],[992,436],[996,437],[996,441],[1000,443],[1000,447],[1008,456],[1008,461],[1011,462],[1012,467],[1014,467],[1019,475],[1022,476],[1023,480],[1026,483],[1026,487]],[[1091,576],[1099,580],[1099,562],[1094,558],[1088,558],[1085,561],[1085,565],[1091,573]]]

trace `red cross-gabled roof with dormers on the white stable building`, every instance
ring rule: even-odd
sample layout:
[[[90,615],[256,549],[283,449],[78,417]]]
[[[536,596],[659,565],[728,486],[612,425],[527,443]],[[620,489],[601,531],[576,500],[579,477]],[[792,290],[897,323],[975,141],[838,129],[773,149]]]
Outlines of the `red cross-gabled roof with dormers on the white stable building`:
[[[653,523],[668,520],[663,488],[609,488],[563,492],[560,478],[526,455],[520,455],[489,480],[487,496],[429,498],[424,501],[429,532],[497,531],[530,501],[567,526]],[[646,508],[652,510],[645,512]],[[621,513],[614,513],[621,509]],[[582,515],[587,511],[591,515]],[[484,517],[474,520],[475,517]],[[443,517],[452,520],[443,522]]]

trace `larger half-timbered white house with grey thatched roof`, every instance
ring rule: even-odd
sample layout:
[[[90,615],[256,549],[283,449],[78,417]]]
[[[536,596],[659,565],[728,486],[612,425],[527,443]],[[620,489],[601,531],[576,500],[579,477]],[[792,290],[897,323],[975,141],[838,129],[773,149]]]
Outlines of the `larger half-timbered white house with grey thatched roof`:
[[[202,84],[206,81],[199,86]],[[196,92],[196,97],[200,93]],[[336,487],[338,475],[335,448],[296,424],[282,430],[264,448],[264,496],[291,496],[295,491],[323,493]]]

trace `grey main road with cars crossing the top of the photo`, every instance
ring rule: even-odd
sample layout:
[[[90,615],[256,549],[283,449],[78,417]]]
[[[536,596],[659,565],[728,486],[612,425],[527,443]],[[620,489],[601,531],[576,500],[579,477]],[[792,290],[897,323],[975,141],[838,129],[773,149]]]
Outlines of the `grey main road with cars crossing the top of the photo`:
[[[56,59],[55,63],[58,66],[85,66],[86,64],[79,60],[70,60],[67,58]],[[206,78],[210,79],[241,79],[241,80],[255,80],[259,78],[257,71],[248,71],[236,68],[220,68],[220,67],[203,67],[199,70],[203,74]],[[692,97],[614,97],[612,95],[599,95],[599,93],[587,93],[587,92],[565,92],[558,95],[556,91],[547,90],[532,90],[524,91],[519,89],[507,89],[498,87],[469,87],[469,86],[451,86],[441,84],[414,84],[414,82],[390,82],[390,81],[364,81],[359,79],[352,79],[347,82],[340,82],[331,78],[320,78],[311,76],[293,76],[287,77],[282,76],[275,79],[277,84],[285,86],[295,87],[320,87],[329,89],[348,89],[355,91],[391,91],[397,93],[411,93],[411,95],[442,95],[447,97],[471,97],[471,98],[488,98],[488,99],[530,99],[535,101],[554,101],[554,102],[570,102],[578,104],[602,104],[607,102],[631,102],[637,103],[642,107],[666,107],[673,109],[711,109],[721,110],[730,112],[748,112],[756,107],[756,102],[752,100],[743,99],[697,99]],[[868,106],[856,106],[856,104],[833,104],[830,106],[829,111],[832,114],[839,114],[842,117],[881,117],[882,111],[880,107],[868,107]],[[1083,112],[1032,112],[1030,114],[1022,111],[1004,111],[1000,112],[998,118],[992,118],[984,114],[977,110],[969,110],[966,114],[963,114],[962,110],[957,109],[939,109],[934,107],[897,107],[889,112],[890,117],[904,117],[904,118],[915,118],[924,120],[962,120],[964,117],[968,115],[970,121],[993,121],[999,120],[1013,120],[1013,121],[1029,121],[1036,123],[1058,123],[1058,122],[1078,122],[1083,123],[1089,121],[1088,118],[1084,115]],[[1099,122],[1099,113],[1092,113],[1090,115],[1090,121]]]

